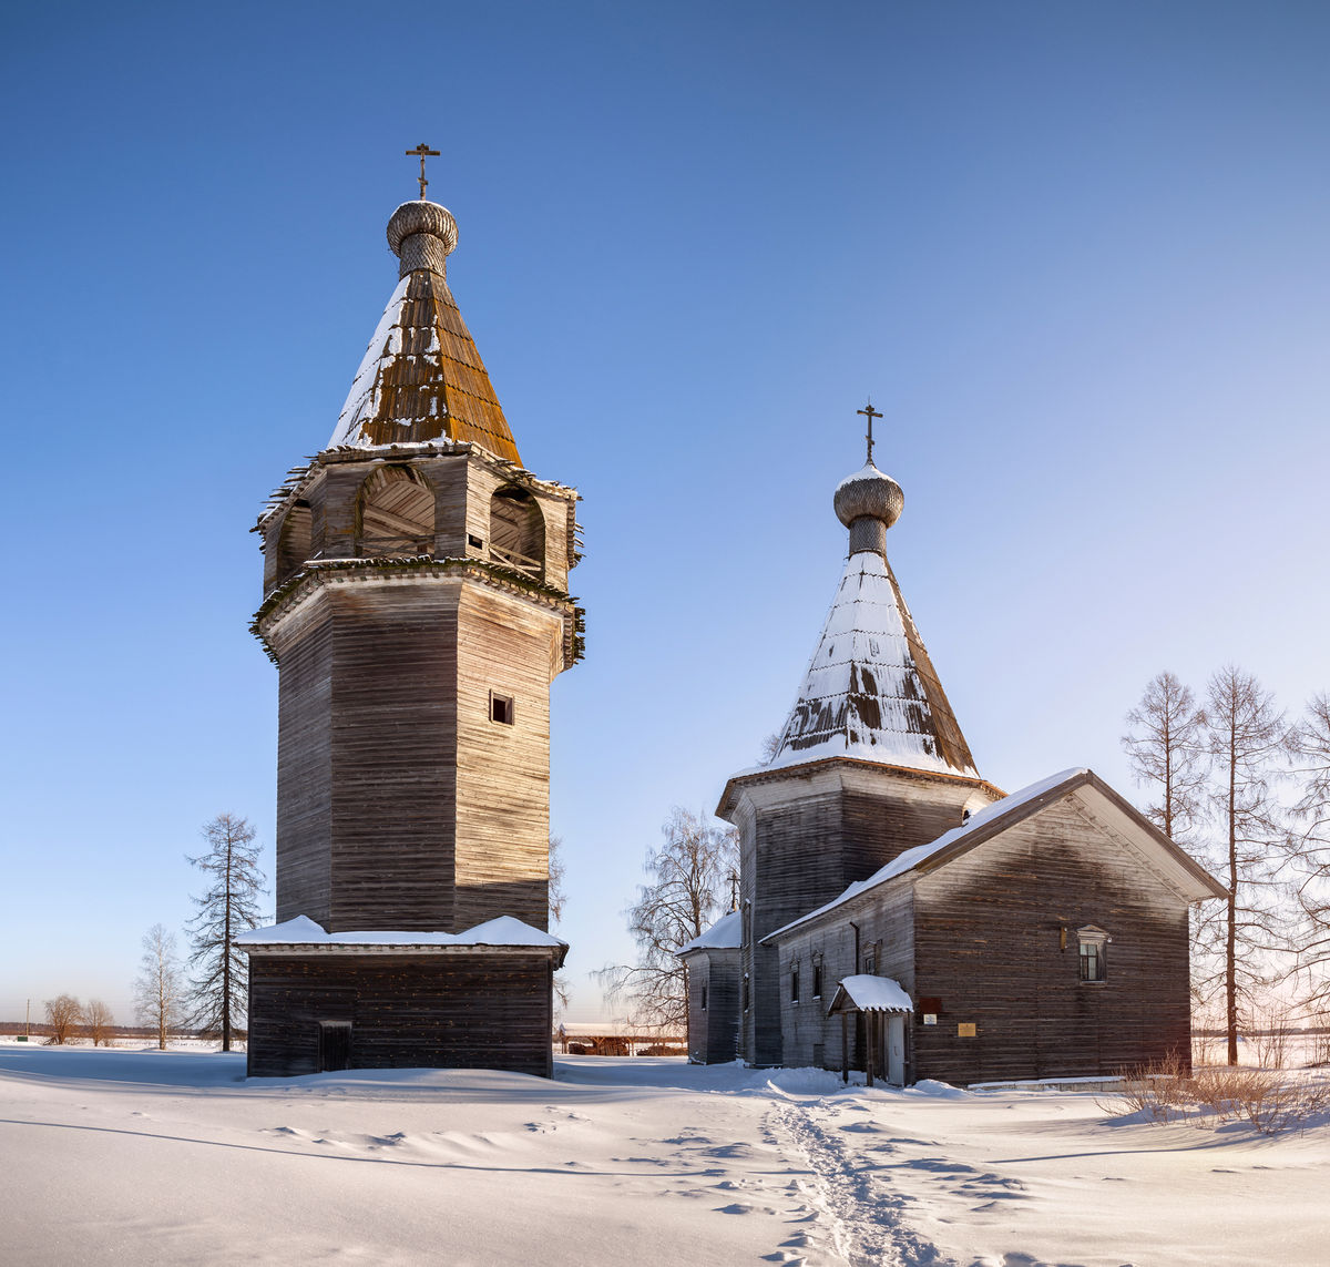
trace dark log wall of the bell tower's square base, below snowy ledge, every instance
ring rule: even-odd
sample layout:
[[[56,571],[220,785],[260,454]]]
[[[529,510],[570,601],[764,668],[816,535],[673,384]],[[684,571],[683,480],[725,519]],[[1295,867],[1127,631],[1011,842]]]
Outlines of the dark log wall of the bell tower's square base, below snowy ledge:
[[[544,956],[254,956],[249,1074],[318,1071],[318,1022],[351,1022],[354,1069],[505,1069],[549,1077]]]

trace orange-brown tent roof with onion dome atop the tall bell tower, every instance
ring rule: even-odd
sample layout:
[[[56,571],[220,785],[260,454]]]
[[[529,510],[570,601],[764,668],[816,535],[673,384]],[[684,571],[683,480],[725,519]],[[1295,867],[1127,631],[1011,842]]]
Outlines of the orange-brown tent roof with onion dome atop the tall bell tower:
[[[402,261],[329,449],[469,441],[521,464],[475,339],[446,279],[458,225],[438,202],[403,202],[388,221]]]

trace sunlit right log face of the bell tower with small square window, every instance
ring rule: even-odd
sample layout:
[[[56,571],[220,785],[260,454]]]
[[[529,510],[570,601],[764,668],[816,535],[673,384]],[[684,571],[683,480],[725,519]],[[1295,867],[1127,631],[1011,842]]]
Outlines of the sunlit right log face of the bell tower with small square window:
[[[459,616],[456,922],[549,921],[549,677],[563,619],[467,586]],[[491,691],[513,723],[492,721]]]

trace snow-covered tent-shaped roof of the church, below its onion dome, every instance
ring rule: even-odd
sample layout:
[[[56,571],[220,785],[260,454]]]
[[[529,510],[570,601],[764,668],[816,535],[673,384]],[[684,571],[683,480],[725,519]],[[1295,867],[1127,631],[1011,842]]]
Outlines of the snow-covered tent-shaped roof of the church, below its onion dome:
[[[887,560],[850,555],[775,756],[846,756],[978,777]]]

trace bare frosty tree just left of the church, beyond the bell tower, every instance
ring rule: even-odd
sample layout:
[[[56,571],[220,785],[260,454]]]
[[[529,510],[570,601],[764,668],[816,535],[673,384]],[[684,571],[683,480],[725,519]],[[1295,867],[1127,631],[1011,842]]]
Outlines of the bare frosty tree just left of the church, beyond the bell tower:
[[[600,976],[612,997],[633,1001],[636,1019],[684,1026],[688,974],[676,952],[728,909],[738,874],[738,832],[678,807],[661,830],[665,842],[646,854],[650,882],[638,889],[628,912],[637,962],[606,968]]]

